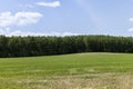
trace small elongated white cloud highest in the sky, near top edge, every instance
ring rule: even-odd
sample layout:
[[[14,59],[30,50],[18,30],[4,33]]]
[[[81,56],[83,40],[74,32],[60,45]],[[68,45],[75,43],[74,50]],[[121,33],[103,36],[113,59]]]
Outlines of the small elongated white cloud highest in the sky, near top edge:
[[[38,6],[43,6],[43,7],[51,7],[51,8],[58,8],[61,6],[60,1],[53,1],[53,2],[35,2]]]

